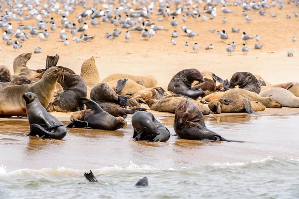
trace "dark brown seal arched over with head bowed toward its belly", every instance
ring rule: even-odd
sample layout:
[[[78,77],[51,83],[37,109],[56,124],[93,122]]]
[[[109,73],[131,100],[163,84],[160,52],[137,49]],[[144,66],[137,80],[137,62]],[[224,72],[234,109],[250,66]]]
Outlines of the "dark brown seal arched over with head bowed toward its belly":
[[[191,88],[194,81],[204,82],[203,76],[199,70],[195,68],[184,69],[172,77],[167,90],[176,94],[185,95],[194,100],[198,99],[199,96],[206,96],[205,92],[203,92],[200,88]]]

